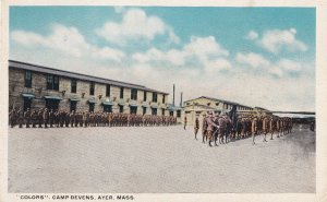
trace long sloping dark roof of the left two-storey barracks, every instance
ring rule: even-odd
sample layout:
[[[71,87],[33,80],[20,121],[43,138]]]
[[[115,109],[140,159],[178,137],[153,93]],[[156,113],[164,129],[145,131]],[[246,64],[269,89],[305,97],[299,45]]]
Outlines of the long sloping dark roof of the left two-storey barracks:
[[[40,72],[40,73],[49,73],[49,74],[55,74],[55,75],[61,75],[61,76],[64,76],[64,78],[78,79],[78,80],[83,80],[83,81],[90,81],[90,82],[96,82],[96,83],[110,84],[110,85],[119,86],[119,87],[136,88],[136,90],[146,91],[146,92],[157,92],[157,93],[168,95],[168,93],[152,90],[152,88],[148,88],[144,85],[126,83],[126,82],[120,82],[120,81],[105,79],[105,78],[97,78],[97,76],[93,76],[93,75],[86,75],[86,74],[75,73],[75,72],[70,72],[70,71],[64,71],[64,70],[58,70],[58,69],[53,69],[53,68],[48,68],[48,67],[44,67],[44,66],[32,64],[32,63],[15,61],[15,60],[9,60],[9,67],[10,68],[35,71],[35,72]]]

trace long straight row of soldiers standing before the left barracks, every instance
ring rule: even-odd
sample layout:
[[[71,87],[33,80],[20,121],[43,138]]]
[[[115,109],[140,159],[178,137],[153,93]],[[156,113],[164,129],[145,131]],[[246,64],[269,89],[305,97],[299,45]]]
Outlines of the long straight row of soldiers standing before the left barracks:
[[[147,127],[173,126],[177,118],[172,116],[134,115],[116,112],[93,112],[68,110],[48,110],[47,108],[24,111],[14,108],[9,112],[11,128],[53,128],[53,127]]]

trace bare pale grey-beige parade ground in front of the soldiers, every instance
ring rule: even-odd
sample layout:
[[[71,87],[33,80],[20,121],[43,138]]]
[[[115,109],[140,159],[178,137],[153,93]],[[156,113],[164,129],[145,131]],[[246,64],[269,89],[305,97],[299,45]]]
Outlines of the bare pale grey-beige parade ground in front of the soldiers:
[[[182,126],[10,129],[9,192],[315,192],[307,126],[256,145],[199,139]]]

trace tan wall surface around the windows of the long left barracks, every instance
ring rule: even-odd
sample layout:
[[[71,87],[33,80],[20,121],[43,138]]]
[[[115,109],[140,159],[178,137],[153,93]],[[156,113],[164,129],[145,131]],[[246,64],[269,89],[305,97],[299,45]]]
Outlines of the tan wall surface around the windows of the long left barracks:
[[[104,106],[101,105],[102,102],[109,99],[110,102],[120,102],[123,100],[124,105],[124,112],[130,112],[130,104],[137,105],[137,114],[143,114],[143,104],[147,104],[146,114],[152,114],[150,105],[153,105],[153,92],[146,92],[147,97],[146,102],[144,102],[144,91],[137,90],[137,100],[131,100],[131,88],[124,87],[124,96],[123,99],[120,99],[120,87],[119,86],[110,86],[110,96],[106,97],[106,84],[95,83],[95,94],[89,95],[89,84],[88,81],[77,80],[76,85],[76,93],[71,92],[71,79],[59,76],[59,91],[49,91],[47,90],[47,81],[45,73],[32,72],[32,87],[27,88],[24,87],[24,76],[25,70],[10,68],[9,69],[9,103],[10,108],[12,106],[15,107],[23,107],[24,99],[22,94],[28,93],[34,94],[35,98],[32,99],[31,108],[45,108],[46,100],[44,96],[58,96],[61,97],[62,100],[59,102],[59,109],[70,110],[71,100],[70,98],[77,98],[78,102],[76,103],[76,110],[87,111],[89,109],[88,100],[90,98],[96,100],[95,104],[95,111],[102,111]],[[84,96],[83,96],[84,95]],[[99,96],[101,95],[101,96]],[[168,100],[168,96],[166,96],[166,103]],[[158,109],[157,115],[161,115],[161,107],[167,107],[166,104],[162,104],[162,94],[158,93],[157,98]],[[113,112],[119,112],[119,106],[112,106]],[[169,115],[169,110],[166,109],[165,115]],[[175,116],[175,112],[174,112]]]

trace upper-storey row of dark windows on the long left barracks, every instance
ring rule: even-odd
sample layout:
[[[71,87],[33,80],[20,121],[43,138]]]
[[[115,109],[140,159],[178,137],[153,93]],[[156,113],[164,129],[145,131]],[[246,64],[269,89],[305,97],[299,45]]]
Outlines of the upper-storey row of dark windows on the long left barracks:
[[[25,71],[25,87],[32,87],[32,72]],[[58,75],[47,75],[47,90],[52,91],[59,91],[59,76]],[[75,79],[71,80],[71,93],[77,92],[77,81]],[[95,94],[95,83],[89,83],[89,95]],[[144,92],[143,100],[146,100],[147,92]],[[110,97],[110,85],[106,85],[106,97]],[[120,87],[120,98],[124,97],[124,88]],[[137,90],[132,88],[131,90],[131,99],[137,100]],[[153,92],[153,102],[157,103],[158,100],[158,94],[156,92]],[[165,104],[165,95],[162,96],[162,104]]]

